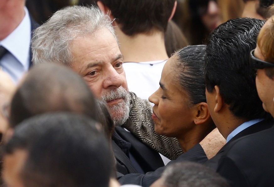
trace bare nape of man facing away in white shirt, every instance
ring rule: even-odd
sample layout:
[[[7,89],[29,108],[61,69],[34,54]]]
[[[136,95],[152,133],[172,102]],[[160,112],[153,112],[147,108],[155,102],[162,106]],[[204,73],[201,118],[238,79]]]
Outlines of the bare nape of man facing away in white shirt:
[[[119,27],[115,28],[120,42],[120,50],[125,62],[144,62],[166,60],[168,55],[164,45],[164,33],[125,35]]]

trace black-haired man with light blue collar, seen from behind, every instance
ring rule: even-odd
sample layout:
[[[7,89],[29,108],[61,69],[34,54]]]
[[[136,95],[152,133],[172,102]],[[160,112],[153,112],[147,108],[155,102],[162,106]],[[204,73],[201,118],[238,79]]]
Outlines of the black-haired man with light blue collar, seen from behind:
[[[216,170],[219,159],[240,137],[270,128],[249,67],[249,54],[265,21],[231,19],[213,30],[205,56],[208,109],[226,144],[205,164]],[[252,146],[252,145],[246,145]],[[229,171],[228,171],[229,172]]]

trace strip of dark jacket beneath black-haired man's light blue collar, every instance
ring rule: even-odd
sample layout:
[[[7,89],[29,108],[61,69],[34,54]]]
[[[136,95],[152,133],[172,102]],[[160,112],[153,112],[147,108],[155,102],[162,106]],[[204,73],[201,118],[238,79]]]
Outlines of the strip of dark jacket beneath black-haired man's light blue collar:
[[[244,129],[243,131],[239,132],[236,136],[234,136],[227,144],[225,144],[220,149],[220,151],[213,158],[211,158],[210,160],[205,162],[204,165],[206,165],[207,167],[212,168],[214,171],[216,171],[220,158],[223,156],[225,150],[227,150],[228,147],[230,147],[230,144],[232,142],[239,139],[240,137],[271,128],[272,125],[273,125],[272,121],[263,120],[263,121],[260,121],[259,123],[256,123],[246,129]]]

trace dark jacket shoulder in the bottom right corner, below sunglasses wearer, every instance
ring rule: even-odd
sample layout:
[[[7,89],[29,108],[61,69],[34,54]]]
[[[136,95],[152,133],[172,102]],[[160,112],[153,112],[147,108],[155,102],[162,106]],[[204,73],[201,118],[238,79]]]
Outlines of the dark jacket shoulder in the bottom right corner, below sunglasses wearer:
[[[274,127],[237,139],[223,153],[217,172],[234,186],[274,186]]]

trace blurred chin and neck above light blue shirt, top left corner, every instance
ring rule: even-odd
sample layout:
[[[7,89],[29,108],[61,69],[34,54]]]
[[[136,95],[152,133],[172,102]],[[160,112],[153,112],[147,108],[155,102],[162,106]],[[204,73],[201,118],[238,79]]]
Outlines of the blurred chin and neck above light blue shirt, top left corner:
[[[0,5],[0,40],[5,39],[24,19],[24,1],[7,1]]]

